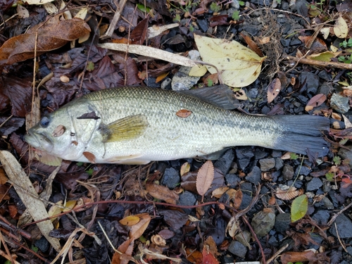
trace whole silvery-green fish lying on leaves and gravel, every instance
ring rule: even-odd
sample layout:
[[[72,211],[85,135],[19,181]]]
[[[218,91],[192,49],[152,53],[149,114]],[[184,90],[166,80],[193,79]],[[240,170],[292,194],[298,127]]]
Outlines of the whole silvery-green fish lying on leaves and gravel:
[[[68,161],[146,164],[217,159],[234,146],[327,155],[318,115],[249,115],[233,111],[229,87],[174,92],[150,87],[102,89],[44,115],[25,134],[34,149]]]

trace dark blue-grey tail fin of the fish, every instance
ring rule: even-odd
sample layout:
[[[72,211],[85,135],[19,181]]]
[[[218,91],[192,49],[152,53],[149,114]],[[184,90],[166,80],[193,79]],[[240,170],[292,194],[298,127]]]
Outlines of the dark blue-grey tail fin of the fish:
[[[282,125],[283,132],[274,144],[274,149],[294,153],[318,153],[327,155],[329,144],[322,138],[329,130],[329,119],[317,115],[272,115]]]

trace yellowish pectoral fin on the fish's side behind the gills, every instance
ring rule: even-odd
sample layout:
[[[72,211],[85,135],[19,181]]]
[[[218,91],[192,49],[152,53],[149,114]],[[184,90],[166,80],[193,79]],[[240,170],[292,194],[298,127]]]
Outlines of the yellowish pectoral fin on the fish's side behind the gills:
[[[148,127],[145,115],[129,115],[108,125],[101,124],[99,129],[103,135],[103,142],[118,142],[135,139],[142,136]]]

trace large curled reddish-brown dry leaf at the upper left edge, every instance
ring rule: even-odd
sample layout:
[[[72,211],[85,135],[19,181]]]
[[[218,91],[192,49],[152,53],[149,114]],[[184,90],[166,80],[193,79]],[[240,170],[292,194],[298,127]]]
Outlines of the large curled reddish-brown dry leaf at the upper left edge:
[[[59,15],[56,15],[45,23],[32,27],[26,34],[8,39],[0,48],[0,65],[11,65],[34,58],[36,32],[38,32],[37,56],[39,56],[84,36],[90,32],[90,28],[80,18],[59,20]]]

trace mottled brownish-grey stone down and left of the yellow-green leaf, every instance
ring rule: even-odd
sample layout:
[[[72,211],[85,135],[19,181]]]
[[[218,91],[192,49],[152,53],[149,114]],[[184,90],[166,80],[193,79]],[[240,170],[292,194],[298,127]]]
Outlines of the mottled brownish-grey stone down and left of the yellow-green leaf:
[[[264,237],[275,225],[275,213],[269,210],[262,210],[254,215],[251,225],[258,237]]]

